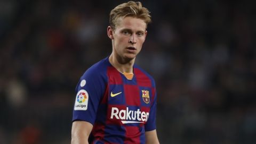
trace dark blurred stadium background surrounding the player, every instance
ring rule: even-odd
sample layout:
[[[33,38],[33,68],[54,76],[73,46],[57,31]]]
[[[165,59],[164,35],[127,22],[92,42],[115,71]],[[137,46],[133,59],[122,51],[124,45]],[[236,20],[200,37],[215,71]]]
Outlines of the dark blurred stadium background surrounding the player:
[[[75,87],[111,53],[126,1],[0,0],[0,143],[70,143]],[[147,1],[137,64],[156,80],[161,143],[256,143],[252,1]]]

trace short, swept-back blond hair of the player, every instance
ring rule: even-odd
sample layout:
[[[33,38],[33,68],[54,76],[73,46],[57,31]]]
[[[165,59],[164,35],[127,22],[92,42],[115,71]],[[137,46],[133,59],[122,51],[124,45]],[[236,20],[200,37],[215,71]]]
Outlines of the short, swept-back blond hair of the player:
[[[110,27],[115,30],[120,18],[131,16],[145,21],[147,26],[148,23],[151,22],[151,16],[149,13],[150,12],[146,7],[142,7],[141,2],[130,1],[120,4],[111,10],[109,14],[109,24]]]

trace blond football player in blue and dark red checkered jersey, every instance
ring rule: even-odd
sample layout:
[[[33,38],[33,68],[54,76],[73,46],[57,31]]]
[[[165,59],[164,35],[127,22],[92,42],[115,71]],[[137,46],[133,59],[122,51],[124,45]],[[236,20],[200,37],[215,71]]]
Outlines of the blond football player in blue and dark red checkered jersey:
[[[107,33],[113,50],[77,84],[71,143],[159,143],[155,82],[134,64],[149,22],[140,2],[110,12]]]

